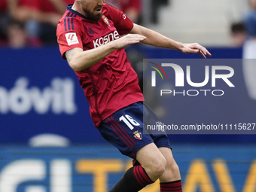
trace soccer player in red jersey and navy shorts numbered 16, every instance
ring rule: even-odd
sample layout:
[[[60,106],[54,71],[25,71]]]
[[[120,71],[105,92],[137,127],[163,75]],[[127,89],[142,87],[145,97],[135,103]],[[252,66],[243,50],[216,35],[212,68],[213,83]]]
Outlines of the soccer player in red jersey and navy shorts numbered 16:
[[[157,178],[161,192],[181,192],[181,176],[166,134],[142,135],[143,123],[160,120],[143,105],[124,47],[142,42],[205,58],[211,53],[200,44],[182,44],[136,25],[104,0],[75,0],[59,20],[56,35],[62,58],[78,75],[99,133],[136,160],[110,192],[136,192]]]

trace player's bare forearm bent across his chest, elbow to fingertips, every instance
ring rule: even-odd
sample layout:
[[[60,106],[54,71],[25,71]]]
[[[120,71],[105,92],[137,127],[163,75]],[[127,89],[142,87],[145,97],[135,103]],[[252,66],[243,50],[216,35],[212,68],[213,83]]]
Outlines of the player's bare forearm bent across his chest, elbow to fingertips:
[[[93,64],[99,62],[114,50],[126,47],[128,44],[137,44],[143,40],[145,40],[145,36],[143,35],[129,34],[91,50],[73,48],[72,50],[66,51],[66,59],[69,62],[69,66],[75,72],[80,72],[93,66]]]

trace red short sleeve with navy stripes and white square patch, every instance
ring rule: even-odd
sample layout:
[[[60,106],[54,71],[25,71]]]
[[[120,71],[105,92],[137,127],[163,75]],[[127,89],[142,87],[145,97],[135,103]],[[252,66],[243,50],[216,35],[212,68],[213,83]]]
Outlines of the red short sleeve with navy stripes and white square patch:
[[[66,51],[74,48],[83,49],[81,29],[74,17],[64,17],[59,21],[56,36],[63,59],[66,59]]]

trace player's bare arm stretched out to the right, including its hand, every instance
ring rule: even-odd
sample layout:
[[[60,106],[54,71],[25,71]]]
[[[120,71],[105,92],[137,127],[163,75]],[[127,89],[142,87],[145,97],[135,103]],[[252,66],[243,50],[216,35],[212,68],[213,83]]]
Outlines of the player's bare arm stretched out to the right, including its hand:
[[[133,29],[130,33],[144,35],[147,38],[142,41],[142,43],[149,44],[155,47],[180,50],[183,53],[200,53],[204,58],[206,58],[206,55],[212,55],[211,53],[209,53],[208,50],[206,50],[205,47],[201,46],[200,44],[183,44],[137,24],[134,24]]]

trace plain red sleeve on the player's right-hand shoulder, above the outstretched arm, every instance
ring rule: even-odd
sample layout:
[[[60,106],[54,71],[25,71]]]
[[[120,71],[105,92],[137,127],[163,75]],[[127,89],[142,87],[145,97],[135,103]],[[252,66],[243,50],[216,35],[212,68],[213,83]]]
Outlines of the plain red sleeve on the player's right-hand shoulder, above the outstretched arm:
[[[108,9],[106,17],[111,18],[119,35],[124,35],[133,29],[133,21],[131,21],[126,14],[108,4],[106,5],[106,8]]]

